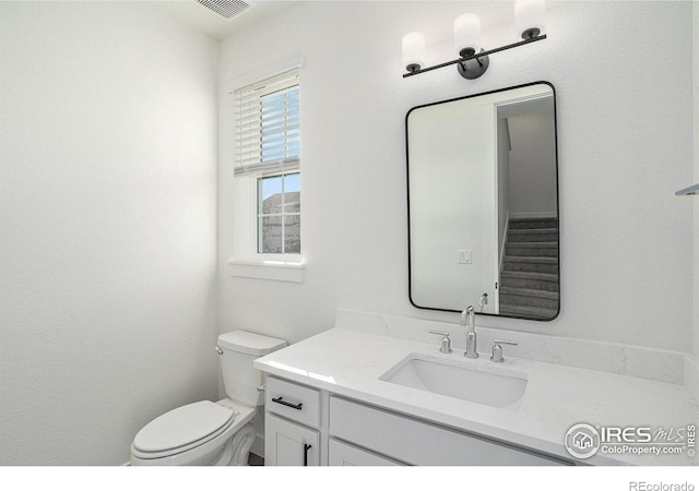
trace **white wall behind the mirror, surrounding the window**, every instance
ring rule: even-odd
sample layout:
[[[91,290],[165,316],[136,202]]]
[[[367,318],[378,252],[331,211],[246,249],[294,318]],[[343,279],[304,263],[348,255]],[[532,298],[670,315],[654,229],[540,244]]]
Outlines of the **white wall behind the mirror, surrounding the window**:
[[[442,69],[403,80],[401,36],[453,58],[473,10],[484,45],[511,40],[510,2],[305,2],[228,38],[226,81],[301,53],[303,284],[232,278],[232,100],[220,106],[220,330],[297,342],[337,307],[457,322],[407,298],[404,117],[420,104],[546,80],[557,89],[561,313],[479,324],[657,348],[691,344],[691,3],[547,2],[548,39],[494,55],[476,81]],[[639,39],[664,33],[663,43]],[[673,49],[667,49],[672,46]],[[662,60],[662,61],[660,61]],[[662,69],[659,67],[662,65]],[[477,299],[474,299],[474,302]]]

